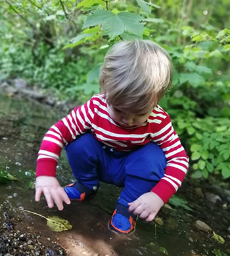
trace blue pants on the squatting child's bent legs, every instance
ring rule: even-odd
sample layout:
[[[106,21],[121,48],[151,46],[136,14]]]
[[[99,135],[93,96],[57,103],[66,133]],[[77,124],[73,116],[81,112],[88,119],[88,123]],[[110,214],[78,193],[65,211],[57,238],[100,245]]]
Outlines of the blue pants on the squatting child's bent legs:
[[[164,176],[166,157],[154,143],[129,152],[112,151],[85,133],[68,144],[66,155],[74,177],[85,185],[99,181],[124,187],[120,197],[132,202],[147,193]]]

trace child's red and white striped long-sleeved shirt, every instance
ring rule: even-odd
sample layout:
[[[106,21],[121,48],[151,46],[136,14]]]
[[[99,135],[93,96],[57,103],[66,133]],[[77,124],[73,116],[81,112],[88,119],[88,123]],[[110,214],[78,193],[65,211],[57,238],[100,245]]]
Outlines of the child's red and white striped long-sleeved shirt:
[[[151,191],[164,203],[181,185],[189,158],[172,127],[168,113],[156,106],[143,125],[126,129],[111,119],[104,94],[93,96],[49,129],[38,152],[36,176],[55,176],[62,147],[87,130],[98,141],[114,150],[132,150],[137,145],[150,142],[158,144],[166,156],[167,165],[164,177]]]

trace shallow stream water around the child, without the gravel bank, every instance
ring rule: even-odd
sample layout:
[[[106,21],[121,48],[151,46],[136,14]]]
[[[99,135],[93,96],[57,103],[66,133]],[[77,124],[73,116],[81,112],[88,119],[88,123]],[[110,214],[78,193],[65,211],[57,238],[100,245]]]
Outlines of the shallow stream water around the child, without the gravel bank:
[[[222,197],[219,205],[207,202],[195,195],[195,188],[189,180],[185,181],[177,195],[189,202],[193,212],[172,205],[172,209],[164,207],[156,221],[145,223],[138,220],[135,234],[128,237],[117,236],[107,229],[121,190],[118,187],[102,183],[95,199],[66,205],[61,212],[56,208],[47,208],[44,199],[35,203],[32,187],[41,140],[47,129],[65,114],[36,102],[0,95],[0,171],[7,170],[19,179],[0,183],[0,203],[12,215],[20,214],[22,226],[34,226],[37,232],[49,234],[52,240],[66,249],[68,255],[229,255],[229,201]],[[72,181],[64,152],[58,164],[57,177],[61,185]],[[68,220],[73,229],[62,233],[51,232],[43,218],[19,213],[13,207],[45,216],[58,215]],[[212,232],[195,228],[196,220],[206,222],[225,239],[225,243],[222,245],[214,240]]]

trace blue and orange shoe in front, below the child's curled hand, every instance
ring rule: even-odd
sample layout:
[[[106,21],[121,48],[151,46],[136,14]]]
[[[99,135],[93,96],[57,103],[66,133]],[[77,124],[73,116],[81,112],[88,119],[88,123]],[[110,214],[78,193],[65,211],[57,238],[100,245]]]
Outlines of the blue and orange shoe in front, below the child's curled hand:
[[[135,231],[137,216],[129,212],[127,202],[119,197],[116,208],[108,222],[108,229],[118,234],[130,234]]]

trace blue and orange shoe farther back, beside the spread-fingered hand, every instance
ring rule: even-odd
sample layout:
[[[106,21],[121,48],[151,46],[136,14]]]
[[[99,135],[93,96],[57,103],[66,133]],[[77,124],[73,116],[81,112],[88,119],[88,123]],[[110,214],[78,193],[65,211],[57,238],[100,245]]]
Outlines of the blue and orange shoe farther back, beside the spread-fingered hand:
[[[76,181],[64,187],[64,191],[68,198],[72,201],[83,201],[93,199],[97,193],[99,186],[87,186]]]

